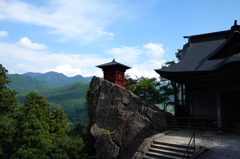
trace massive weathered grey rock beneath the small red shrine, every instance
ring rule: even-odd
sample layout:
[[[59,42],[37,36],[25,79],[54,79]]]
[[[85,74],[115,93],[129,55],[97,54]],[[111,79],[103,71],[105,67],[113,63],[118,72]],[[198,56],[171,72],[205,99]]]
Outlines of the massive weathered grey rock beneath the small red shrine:
[[[106,80],[94,77],[87,98],[99,159],[134,158],[145,138],[167,128],[163,111]]]

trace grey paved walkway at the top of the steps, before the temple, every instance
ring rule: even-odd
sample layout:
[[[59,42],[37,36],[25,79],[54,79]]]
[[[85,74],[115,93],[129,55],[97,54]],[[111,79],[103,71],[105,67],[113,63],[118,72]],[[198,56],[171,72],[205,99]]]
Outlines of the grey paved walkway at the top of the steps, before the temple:
[[[193,130],[175,130],[157,138],[158,141],[188,144]],[[200,159],[240,159],[240,135],[219,134],[215,131],[196,131],[196,145],[208,151]]]

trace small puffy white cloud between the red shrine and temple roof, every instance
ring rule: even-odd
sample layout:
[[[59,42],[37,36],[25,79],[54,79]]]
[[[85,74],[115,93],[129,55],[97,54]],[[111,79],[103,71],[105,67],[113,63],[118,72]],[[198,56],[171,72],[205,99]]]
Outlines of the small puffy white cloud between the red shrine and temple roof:
[[[160,58],[164,54],[162,44],[148,43],[143,45],[143,48],[147,49],[146,54],[153,58]]]

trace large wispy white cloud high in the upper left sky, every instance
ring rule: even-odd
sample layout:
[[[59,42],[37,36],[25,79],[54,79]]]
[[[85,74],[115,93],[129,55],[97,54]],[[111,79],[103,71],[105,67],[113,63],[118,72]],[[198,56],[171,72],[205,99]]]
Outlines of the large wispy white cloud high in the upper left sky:
[[[115,2],[117,3],[117,2]],[[124,13],[120,6],[105,0],[49,0],[45,6],[19,0],[0,1],[0,20],[17,21],[51,29],[62,40],[80,40],[83,43],[96,39],[111,39],[114,33],[107,31]]]

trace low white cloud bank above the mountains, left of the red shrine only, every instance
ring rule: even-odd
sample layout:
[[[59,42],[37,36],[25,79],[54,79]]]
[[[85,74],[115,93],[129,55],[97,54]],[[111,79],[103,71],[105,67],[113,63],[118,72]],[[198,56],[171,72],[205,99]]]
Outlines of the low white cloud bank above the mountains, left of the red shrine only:
[[[111,59],[96,54],[49,53],[44,50],[28,49],[18,43],[0,43],[1,64],[9,73],[57,71],[67,76],[102,76],[96,65]]]

